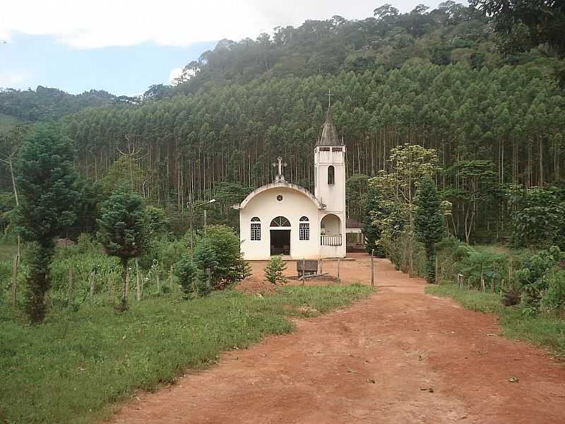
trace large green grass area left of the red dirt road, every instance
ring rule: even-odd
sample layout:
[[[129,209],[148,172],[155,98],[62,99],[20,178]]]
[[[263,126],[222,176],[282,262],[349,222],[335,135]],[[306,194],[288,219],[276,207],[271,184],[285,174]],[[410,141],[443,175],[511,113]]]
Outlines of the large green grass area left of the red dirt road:
[[[76,312],[54,308],[37,327],[0,322],[0,422],[92,422],[135,389],[153,390],[186,368],[213,365],[221,351],[292,331],[287,317],[300,315],[297,307],[309,306],[302,314],[311,316],[369,293],[363,285],[289,286],[265,298],[226,290],[134,302],[121,316],[85,303]]]

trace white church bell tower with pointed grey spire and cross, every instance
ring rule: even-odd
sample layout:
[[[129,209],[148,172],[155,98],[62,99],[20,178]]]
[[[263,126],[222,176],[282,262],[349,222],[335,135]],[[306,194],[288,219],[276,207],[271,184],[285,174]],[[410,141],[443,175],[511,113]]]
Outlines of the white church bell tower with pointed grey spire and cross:
[[[314,169],[316,170],[314,195],[326,205],[326,213],[333,213],[341,220],[345,233],[345,144],[339,139],[333,124],[331,93],[328,93],[328,113],[323,123],[321,136],[314,147]]]

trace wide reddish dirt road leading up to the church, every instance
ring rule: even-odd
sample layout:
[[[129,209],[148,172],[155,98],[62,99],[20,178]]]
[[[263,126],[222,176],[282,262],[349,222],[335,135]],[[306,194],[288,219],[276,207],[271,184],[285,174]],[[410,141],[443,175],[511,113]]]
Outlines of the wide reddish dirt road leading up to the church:
[[[368,283],[367,256],[355,259],[340,275]],[[259,284],[264,264],[253,266]],[[563,363],[497,336],[492,315],[425,295],[384,259],[375,271],[383,287],[367,300],[227,352],[113,423],[565,423]]]

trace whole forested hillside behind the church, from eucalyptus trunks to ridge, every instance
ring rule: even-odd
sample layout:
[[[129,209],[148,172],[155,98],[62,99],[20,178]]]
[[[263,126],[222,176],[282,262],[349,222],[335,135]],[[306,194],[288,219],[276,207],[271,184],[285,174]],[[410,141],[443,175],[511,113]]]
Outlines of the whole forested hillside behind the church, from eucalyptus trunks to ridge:
[[[12,93],[13,101],[1,94],[0,111],[41,119],[81,109],[61,127],[76,143],[82,175],[102,192],[123,178],[167,208],[182,212],[190,196],[215,196],[227,213],[272,180],[278,155],[287,179],[312,188],[312,151],[331,90],[358,190],[348,193],[350,216],[361,213],[364,175],[388,170],[391,148],[419,143],[438,152],[453,232],[501,237],[511,184],[564,179],[564,62],[550,45],[531,48],[492,28],[453,1],[410,13],[385,5],[363,20],[334,16],[257,40],[222,40],[188,64],[176,86],[152,86],[138,105],[81,109],[74,96],[51,113],[25,106],[23,93],[32,102],[37,90]],[[3,175],[5,189],[9,181]]]

